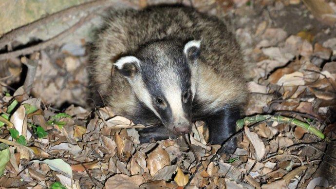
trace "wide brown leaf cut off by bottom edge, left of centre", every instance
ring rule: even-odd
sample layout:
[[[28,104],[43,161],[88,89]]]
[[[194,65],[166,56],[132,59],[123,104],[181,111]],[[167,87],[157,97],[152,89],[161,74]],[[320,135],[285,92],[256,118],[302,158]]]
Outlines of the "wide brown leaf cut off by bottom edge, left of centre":
[[[145,182],[140,175],[128,176],[125,174],[115,174],[105,183],[106,189],[138,189]]]

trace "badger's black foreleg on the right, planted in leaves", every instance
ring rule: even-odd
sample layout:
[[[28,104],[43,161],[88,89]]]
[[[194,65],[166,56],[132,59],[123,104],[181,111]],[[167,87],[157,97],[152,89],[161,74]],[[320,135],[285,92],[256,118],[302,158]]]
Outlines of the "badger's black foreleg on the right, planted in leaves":
[[[209,116],[206,124],[209,129],[209,143],[221,144],[236,133],[236,121],[240,118],[239,108],[225,107],[223,110]],[[237,148],[237,139],[231,138],[225,148],[225,153],[232,154]]]

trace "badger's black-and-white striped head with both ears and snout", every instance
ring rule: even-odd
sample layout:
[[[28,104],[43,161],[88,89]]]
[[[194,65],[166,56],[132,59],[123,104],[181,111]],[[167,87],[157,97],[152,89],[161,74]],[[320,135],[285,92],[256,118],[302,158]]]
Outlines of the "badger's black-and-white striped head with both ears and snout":
[[[115,68],[127,78],[137,98],[176,135],[191,131],[192,101],[200,43],[163,40],[121,57]]]

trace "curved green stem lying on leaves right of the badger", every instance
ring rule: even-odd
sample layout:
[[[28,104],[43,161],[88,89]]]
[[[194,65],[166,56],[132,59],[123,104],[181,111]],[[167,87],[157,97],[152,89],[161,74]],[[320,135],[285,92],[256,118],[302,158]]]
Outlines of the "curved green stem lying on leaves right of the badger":
[[[303,129],[306,129],[308,132],[315,134],[317,137],[324,139],[325,136],[322,132],[320,132],[318,129],[316,129],[314,126],[311,126],[308,123],[304,123],[298,119],[295,118],[290,118],[290,117],[284,117],[281,115],[255,115],[255,116],[250,116],[250,117],[245,117],[243,119],[239,119],[236,124],[237,124],[237,128],[241,129],[243,128],[244,125],[250,125],[250,124],[255,124],[258,123],[260,121],[264,121],[268,119],[269,121],[277,121],[278,123],[289,123],[289,124],[293,124],[296,126],[299,126]]]

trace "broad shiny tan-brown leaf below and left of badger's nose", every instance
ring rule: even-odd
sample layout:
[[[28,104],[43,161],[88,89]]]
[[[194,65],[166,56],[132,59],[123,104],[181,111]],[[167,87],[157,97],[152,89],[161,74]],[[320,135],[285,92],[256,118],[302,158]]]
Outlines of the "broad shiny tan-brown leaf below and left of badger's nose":
[[[146,161],[151,176],[154,176],[158,170],[170,165],[169,154],[160,145],[148,154]]]

